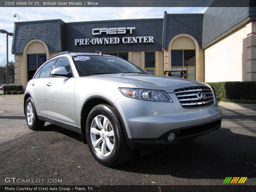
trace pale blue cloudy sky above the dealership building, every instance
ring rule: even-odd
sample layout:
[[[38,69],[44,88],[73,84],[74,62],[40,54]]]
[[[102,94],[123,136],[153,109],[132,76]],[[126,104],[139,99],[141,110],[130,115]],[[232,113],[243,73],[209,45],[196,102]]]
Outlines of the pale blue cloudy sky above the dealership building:
[[[0,29],[13,33],[14,22],[61,19],[64,22],[163,18],[167,13],[204,13],[207,7],[0,7]],[[9,36],[9,61],[12,55],[12,37]],[[0,33],[0,64],[6,60],[6,34]]]

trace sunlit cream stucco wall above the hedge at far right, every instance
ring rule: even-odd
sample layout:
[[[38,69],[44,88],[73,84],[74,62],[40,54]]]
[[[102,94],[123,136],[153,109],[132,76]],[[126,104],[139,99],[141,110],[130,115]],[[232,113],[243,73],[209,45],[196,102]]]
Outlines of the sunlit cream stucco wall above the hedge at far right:
[[[252,22],[244,24],[205,48],[205,82],[256,80],[253,26]]]

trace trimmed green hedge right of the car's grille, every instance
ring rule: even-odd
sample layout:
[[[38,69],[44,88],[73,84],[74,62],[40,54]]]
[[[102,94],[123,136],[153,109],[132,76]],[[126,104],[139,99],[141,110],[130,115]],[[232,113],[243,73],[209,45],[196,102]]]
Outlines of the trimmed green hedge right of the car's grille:
[[[228,81],[207,84],[219,98],[256,100],[256,82]]]

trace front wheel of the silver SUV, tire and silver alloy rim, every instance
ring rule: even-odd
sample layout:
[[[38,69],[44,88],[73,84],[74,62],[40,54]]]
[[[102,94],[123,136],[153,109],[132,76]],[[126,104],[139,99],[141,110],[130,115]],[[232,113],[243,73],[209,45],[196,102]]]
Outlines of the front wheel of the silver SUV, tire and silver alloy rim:
[[[133,156],[117,112],[109,105],[92,108],[86,121],[86,139],[92,155],[105,166],[123,164]]]

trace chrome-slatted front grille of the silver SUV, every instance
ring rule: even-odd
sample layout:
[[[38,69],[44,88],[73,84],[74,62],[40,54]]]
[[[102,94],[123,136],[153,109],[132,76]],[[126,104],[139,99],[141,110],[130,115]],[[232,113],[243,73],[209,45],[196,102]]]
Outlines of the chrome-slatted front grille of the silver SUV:
[[[203,92],[205,97],[198,99],[197,93]],[[214,103],[212,91],[209,87],[187,87],[174,90],[183,108],[200,108]]]

